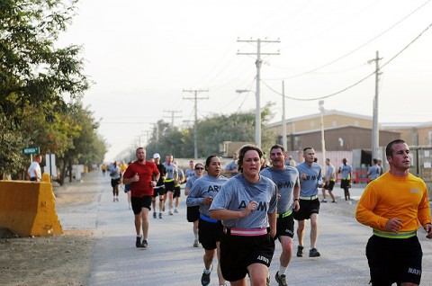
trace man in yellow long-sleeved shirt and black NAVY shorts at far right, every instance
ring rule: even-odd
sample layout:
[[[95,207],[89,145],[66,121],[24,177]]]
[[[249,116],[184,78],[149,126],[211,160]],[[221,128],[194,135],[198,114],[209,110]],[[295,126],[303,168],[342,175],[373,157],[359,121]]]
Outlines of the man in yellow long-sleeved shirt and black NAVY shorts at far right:
[[[401,139],[385,148],[389,172],[366,186],[356,219],[374,228],[366,245],[372,285],[419,285],[422,250],[419,225],[432,238],[426,183],[410,174],[410,149]]]

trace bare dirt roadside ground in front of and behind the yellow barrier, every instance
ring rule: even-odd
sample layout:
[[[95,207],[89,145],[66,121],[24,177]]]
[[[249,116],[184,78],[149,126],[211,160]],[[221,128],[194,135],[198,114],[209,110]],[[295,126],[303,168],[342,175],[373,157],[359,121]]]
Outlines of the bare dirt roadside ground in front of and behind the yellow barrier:
[[[88,191],[88,189],[86,190]],[[96,199],[96,193],[55,187],[56,209]],[[0,228],[0,285],[85,285],[95,245],[93,231],[16,237]]]

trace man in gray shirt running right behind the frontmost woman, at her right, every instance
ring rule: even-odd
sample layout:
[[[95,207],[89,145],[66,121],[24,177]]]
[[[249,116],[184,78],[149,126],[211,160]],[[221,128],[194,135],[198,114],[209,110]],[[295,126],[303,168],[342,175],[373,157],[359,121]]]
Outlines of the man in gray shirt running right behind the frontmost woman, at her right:
[[[293,210],[299,210],[300,181],[299,171],[291,165],[285,165],[285,149],[275,145],[270,149],[272,166],[261,171],[277,185],[277,222],[276,237],[282,245],[279,271],[275,280],[279,285],[286,285],[286,269],[293,257],[294,218]]]

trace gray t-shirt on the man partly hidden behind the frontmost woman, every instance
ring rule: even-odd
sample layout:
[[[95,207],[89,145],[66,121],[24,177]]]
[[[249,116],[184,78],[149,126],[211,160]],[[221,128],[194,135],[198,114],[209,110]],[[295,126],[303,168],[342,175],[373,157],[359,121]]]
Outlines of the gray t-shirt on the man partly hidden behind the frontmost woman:
[[[277,200],[277,213],[283,214],[288,210],[293,210],[293,190],[296,184],[300,184],[299,171],[290,165],[285,165],[284,170],[269,167],[260,174],[277,185],[277,193],[280,194]]]

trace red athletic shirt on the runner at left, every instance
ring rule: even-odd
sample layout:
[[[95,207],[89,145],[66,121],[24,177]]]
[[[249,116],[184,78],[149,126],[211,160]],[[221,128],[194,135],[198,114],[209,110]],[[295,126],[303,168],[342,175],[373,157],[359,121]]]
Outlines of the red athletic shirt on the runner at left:
[[[149,161],[144,161],[144,164],[133,162],[128,166],[123,177],[130,179],[135,174],[139,175],[139,181],[130,183],[130,195],[139,198],[152,196],[153,187],[150,183],[153,181],[153,175],[159,174],[159,170],[157,170],[155,163]]]

